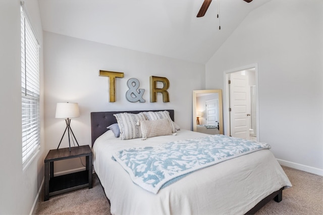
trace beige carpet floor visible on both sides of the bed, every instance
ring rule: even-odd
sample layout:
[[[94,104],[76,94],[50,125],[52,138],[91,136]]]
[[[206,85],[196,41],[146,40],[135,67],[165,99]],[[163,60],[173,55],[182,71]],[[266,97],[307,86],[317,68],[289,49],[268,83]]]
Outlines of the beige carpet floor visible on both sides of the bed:
[[[283,190],[283,200],[268,202],[256,214],[323,214],[323,177],[283,167],[293,187]],[[42,192],[43,193],[43,192]],[[52,196],[40,196],[35,214],[111,214],[97,176],[92,189],[79,189]]]

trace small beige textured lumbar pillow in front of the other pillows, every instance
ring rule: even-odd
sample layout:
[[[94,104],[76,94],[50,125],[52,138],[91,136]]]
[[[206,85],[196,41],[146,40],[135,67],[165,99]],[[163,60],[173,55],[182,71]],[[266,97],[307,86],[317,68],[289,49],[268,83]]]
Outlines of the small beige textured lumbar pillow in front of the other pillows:
[[[171,123],[168,119],[139,120],[137,124],[140,125],[142,139],[172,134]]]

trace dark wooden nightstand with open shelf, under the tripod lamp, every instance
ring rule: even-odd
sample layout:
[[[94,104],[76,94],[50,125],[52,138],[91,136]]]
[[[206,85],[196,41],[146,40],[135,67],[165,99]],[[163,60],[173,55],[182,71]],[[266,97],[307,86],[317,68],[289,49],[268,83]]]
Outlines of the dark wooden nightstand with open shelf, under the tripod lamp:
[[[54,177],[54,162],[71,158],[86,157],[84,171]],[[89,187],[92,188],[92,151],[88,145],[80,147],[49,150],[45,160],[44,201],[49,196],[68,192],[71,190]]]

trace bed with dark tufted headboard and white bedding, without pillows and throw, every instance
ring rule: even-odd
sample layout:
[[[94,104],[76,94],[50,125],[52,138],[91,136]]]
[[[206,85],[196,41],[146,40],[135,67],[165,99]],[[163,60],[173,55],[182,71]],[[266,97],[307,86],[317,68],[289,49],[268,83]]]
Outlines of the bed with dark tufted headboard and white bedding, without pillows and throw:
[[[167,111],[174,121],[174,110]],[[271,151],[259,150],[187,174],[151,193],[131,180],[113,154],[209,134],[180,129],[177,135],[121,140],[107,126],[117,123],[114,114],[124,112],[146,111],[91,113],[93,167],[112,214],[253,214],[272,199],[280,202],[282,190],[292,186]]]

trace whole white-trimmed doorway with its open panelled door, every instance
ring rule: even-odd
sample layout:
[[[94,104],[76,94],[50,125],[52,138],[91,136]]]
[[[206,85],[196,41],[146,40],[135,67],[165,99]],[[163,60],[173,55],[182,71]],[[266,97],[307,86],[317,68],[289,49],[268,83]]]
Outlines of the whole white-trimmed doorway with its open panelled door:
[[[257,64],[225,71],[226,135],[259,141]]]

